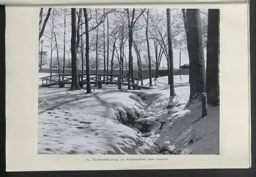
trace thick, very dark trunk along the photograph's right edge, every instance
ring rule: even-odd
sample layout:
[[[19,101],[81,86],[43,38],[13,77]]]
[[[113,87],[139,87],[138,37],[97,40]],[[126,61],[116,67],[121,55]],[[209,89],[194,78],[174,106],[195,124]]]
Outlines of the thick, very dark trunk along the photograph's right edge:
[[[207,60],[206,60],[206,93],[207,103],[219,105],[219,60],[220,60],[220,10],[208,10]]]

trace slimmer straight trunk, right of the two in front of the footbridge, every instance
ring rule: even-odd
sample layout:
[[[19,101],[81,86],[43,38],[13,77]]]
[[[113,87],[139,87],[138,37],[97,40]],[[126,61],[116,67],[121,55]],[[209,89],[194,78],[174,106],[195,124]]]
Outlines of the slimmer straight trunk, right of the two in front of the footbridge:
[[[83,14],[84,14],[84,18],[86,19],[85,23],[86,23],[86,90],[87,93],[91,93],[91,74],[90,74],[90,58],[89,58],[89,45],[90,45],[90,41],[89,41],[89,21],[88,21],[88,14],[87,14],[87,9],[84,8],[83,9]]]

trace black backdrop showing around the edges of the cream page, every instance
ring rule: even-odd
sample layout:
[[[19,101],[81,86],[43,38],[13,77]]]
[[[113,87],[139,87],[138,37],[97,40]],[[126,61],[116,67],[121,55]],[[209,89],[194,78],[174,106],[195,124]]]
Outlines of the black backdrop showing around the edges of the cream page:
[[[255,0],[250,1],[250,87],[251,87],[251,168],[249,169],[174,169],[174,170],[110,170],[110,171],[33,171],[6,172],[6,116],[5,116],[5,6],[0,6],[0,95],[1,95],[1,165],[0,176],[256,176],[255,168],[255,113],[256,113],[256,61],[255,61]],[[241,59],[242,60],[242,59]],[[246,60],[246,59],[245,59]],[[25,159],[24,159],[25,160]],[[35,162],[36,163],[36,162]],[[196,162],[195,162],[196,163]]]

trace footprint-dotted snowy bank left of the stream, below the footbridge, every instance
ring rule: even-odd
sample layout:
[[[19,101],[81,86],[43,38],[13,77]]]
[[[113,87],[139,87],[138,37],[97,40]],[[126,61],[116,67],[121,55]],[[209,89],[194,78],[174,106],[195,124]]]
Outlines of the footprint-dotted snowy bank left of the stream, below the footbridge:
[[[146,106],[135,94],[40,89],[48,91],[39,95],[39,154],[154,153],[128,127]]]

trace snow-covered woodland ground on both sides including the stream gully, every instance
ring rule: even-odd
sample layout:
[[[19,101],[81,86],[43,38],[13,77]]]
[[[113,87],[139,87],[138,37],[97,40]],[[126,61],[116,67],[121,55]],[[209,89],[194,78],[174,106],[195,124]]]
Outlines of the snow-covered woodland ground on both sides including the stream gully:
[[[208,106],[202,119],[200,107],[184,108],[188,75],[177,75],[175,105],[167,109],[167,82],[153,79],[149,90],[103,85],[90,94],[39,87],[38,153],[219,154],[219,107]]]

